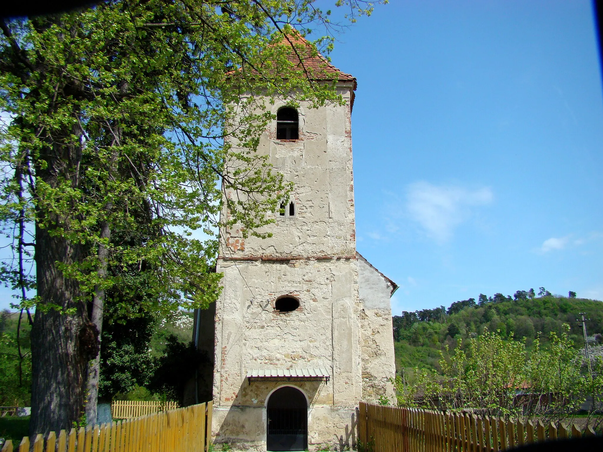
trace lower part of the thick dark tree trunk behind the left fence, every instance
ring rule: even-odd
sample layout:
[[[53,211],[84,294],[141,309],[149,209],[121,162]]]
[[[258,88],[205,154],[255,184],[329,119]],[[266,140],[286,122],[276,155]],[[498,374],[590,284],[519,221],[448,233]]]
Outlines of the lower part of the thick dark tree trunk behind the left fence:
[[[52,237],[36,225],[36,277],[40,304],[31,330],[30,438],[60,432],[77,421],[84,406],[87,315],[75,280],[66,278],[56,262],[74,262],[77,245]],[[63,308],[45,309],[55,304]],[[65,312],[70,309],[71,312]],[[45,312],[46,311],[46,312]]]

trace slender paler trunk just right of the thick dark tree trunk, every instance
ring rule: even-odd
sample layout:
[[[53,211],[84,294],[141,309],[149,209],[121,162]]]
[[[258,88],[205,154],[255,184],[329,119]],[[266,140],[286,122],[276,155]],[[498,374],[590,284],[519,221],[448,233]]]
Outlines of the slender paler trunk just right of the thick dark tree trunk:
[[[107,211],[110,212],[113,204],[107,204]],[[107,243],[111,239],[111,228],[109,222],[103,222],[101,227],[101,239],[107,239]],[[109,257],[109,247],[101,243],[98,246],[99,269],[98,275],[102,279],[107,277],[107,258]],[[98,340],[101,340],[103,333],[103,310],[105,304],[105,290],[96,286],[92,303],[92,323],[96,325],[98,330]],[[99,344],[100,345],[100,344]],[[87,403],[86,403],[86,419],[89,424],[96,424],[96,406],[98,404],[98,378],[101,370],[101,351],[100,347],[98,354],[89,364],[87,382]]]

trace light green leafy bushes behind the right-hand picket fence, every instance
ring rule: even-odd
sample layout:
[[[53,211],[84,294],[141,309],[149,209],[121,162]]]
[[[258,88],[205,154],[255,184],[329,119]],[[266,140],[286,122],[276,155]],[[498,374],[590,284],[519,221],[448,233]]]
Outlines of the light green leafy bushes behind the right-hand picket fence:
[[[409,407],[467,410],[505,418],[526,416],[559,424],[581,409],[587,397],[603,391],[603,360],[585,362],[567,334],[551,333],[550,347],[486,331],[441,353],[441,376],[415,369],[414,381],[397,378],[398,403]],[[417,397],[420,395],[420,397]],[[599,409],[601,401],[593,404]]]

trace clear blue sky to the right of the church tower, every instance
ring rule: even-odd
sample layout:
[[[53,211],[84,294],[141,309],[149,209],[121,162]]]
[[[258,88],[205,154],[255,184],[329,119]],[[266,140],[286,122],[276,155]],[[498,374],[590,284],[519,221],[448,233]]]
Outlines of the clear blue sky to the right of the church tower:
[[[588,1],[399,1],[340,37],[357,248],[393,313],[544,286],[603,300],[603,99]]]

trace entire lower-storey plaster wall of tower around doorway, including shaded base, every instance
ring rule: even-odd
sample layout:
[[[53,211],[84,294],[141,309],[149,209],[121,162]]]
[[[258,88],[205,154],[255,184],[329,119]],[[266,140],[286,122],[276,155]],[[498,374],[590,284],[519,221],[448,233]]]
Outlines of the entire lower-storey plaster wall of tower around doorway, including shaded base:
[[[283,381],[249,383],[247,371],[257,368],[326,368],[328,382],[292,383],[308,395],[311,412],[321,413],[309,420],[309,442],[349,441],[362,397],[357,269],[356,259],[218,261],[224,292],[216,303],[216,442],[265,450],[263,407]],[[300,307],[278,313],[281,295],[298,298]]]

